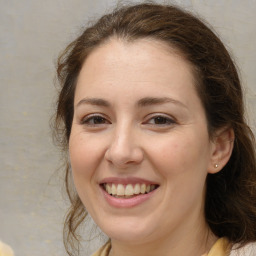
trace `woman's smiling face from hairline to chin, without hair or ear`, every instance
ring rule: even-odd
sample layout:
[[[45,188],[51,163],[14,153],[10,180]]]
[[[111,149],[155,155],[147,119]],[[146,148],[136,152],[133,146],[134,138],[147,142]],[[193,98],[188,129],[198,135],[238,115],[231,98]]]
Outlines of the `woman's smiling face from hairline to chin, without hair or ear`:
[[[164,43],[112,39],[87,58],[70,160],[83,204],[111,239],[204,229],[213,148],[191,67]]]

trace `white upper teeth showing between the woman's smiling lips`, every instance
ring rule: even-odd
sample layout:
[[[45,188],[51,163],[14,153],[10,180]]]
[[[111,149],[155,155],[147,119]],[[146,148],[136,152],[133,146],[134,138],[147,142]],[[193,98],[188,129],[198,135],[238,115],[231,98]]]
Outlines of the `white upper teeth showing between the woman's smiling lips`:
[[[159,186],[156,184],[114,184],[103,183],[101,187],[111,196],[116,198],[132,198],[138,195],[148,194]]]

